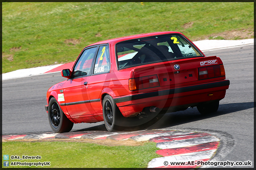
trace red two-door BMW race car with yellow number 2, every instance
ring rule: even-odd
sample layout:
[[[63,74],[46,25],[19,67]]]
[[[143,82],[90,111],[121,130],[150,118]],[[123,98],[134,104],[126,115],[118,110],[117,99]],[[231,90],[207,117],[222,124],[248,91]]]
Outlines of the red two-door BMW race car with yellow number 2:
[[[206,57],[180,32],[96,42],[61,74],[67,80],[50,87],[45,106],[57,133],[98,121],[117,131],[188,107],[216,112],[230,84],[222,60]]]

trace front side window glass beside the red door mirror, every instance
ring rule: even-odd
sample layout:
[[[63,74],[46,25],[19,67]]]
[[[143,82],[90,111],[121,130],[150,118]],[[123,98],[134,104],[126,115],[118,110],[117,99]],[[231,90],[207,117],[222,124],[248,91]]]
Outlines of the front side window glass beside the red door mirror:
[[[91,70],[91,64],[95,55],[97,47],[93,47],[87,50],[84,50],[75,65],[74,68],[74,78],[84,75],[89,75]]]

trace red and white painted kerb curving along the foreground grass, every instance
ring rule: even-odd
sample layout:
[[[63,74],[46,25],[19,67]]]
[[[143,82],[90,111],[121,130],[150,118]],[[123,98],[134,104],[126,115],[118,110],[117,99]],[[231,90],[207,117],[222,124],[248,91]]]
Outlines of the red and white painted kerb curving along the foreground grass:
[[[133,140],[151,141],[160,150],[157,154],[163,157],[154,158],[148,168],[180,168],[194,169],[198,165],[170,165],[170,162],[208,161],[213,157],[219,146],[219,138],[203,133],[175,130],[141,130],[135,132],[81,131],[62,134],[44,133],[30,135],[6,135],[2,140],[45,140],[45,139],[93,139],[93,140]],[[169,164],[164,165],[167,161]]]

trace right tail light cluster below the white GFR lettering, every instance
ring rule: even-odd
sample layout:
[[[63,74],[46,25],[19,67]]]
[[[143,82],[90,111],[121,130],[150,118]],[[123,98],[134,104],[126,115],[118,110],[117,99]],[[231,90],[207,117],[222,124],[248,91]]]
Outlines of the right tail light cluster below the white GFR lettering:
[[[223,64],[198,68],[199,80],[225,76]]]

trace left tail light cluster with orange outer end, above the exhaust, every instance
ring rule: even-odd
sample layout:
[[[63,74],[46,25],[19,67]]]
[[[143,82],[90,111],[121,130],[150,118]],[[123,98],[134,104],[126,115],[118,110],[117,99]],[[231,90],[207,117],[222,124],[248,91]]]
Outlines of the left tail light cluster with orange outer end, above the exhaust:
[[[159,80],[157,75],[150,75],[145,77],[129,79],[129,90],[141,90],[148,89],[152,87],[158,87]]]

